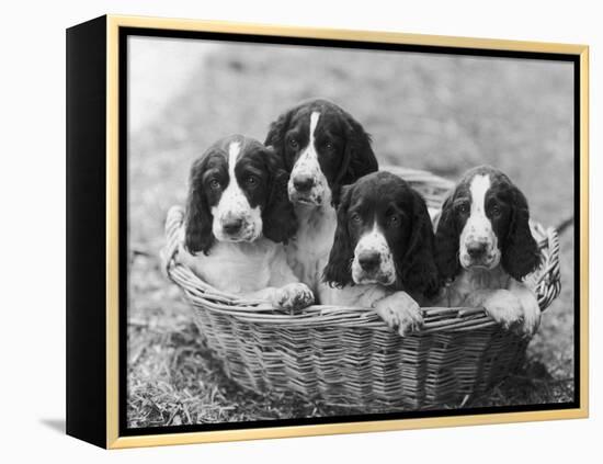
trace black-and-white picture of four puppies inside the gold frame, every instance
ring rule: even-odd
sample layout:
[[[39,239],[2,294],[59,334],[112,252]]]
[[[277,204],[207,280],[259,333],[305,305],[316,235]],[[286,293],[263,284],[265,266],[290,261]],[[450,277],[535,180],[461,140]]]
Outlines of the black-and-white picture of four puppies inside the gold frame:
[[[167,35],[127,36],[128,430],[576,404],[573,61]]]

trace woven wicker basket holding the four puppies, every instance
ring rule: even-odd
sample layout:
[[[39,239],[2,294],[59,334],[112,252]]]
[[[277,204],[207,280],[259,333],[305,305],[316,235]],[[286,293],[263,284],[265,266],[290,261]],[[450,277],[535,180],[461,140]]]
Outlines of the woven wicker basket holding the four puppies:
[[[429,172],[390,168],[439,208],[452,186]],[[184,292],[226,374],[255,393],[296,392],[326,404],[433,407],[485,392],[524,360],[528,339],[494,324],[481,308],[423,308],[420,332],[400,337],[374,310],[311,306],[289,315],[228,295],[172,259],[182,213],[166,225],[167,271]],[[530,276],[541,309],[560,291],[554,228],[532,224],[542,252]]]

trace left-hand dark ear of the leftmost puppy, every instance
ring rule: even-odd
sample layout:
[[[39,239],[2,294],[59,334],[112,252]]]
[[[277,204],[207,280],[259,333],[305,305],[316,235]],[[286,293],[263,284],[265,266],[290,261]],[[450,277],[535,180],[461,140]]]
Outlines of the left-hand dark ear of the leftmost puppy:
[[[191,176],[189,178],[184,246],[192,254],[198,251],[207,254],[215,240],[214,233],[212,231],[214,216],[209,212],[207,196],[203,189],[204,171],[205,158],[197,159],[191,168]]]

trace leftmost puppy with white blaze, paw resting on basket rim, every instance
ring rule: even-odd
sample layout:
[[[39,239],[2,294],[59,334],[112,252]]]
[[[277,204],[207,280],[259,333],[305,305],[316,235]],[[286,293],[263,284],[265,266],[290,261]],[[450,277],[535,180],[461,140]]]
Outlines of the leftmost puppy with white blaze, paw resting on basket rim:
[[[177,259],[214,287],[278,308],[314,303],[286,262],[296,230],[282,160],[260,142],[232,135],[216,142],[191,168]]]

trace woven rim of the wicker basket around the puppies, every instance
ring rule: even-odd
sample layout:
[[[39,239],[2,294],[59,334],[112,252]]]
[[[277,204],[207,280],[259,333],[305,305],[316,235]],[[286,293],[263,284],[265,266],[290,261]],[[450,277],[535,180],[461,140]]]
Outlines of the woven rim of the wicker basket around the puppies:
[[[421,191],[430,207],[439,208],[444,195],[454,186],[450,180],[428,171],[398,167],[387,170],[401,176],[418,190],[421,190],[421,186],[431,190]],[[192,270],[174,261],[181,241],[180,228],[183,218],[183,210],[172,206],[166,223],[167,246],[162,254],[169,279],[184,291],[193,306],[229,315],[246,322],[266,326],[287,325],[292,329],[338,326],[390,330],[372,308],[312,305],[299,313],[289,314],[271,307],[266,302],[246,299],[211,286]],[[535,222],[531,222],[531,229],[541,250],[542,263],[526,280],[532,282],[531,286],[536,293],[541,310],[544,312],[560,292],[559,238],[555,228],[545,228]],[[198,308],[195,307],[195,309]],[[497,322],[481,307],[425,306],[421,310],[424,322],[413,335],[445,330],[478,330],[497,326]]]

